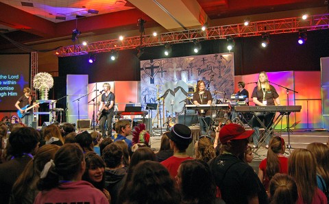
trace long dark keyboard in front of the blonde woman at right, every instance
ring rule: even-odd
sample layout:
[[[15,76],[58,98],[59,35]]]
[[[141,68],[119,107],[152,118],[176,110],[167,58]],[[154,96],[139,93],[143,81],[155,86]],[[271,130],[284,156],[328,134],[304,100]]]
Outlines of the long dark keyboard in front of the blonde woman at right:
[[[302,105],[235,106],[236,112],[300,112]]]

